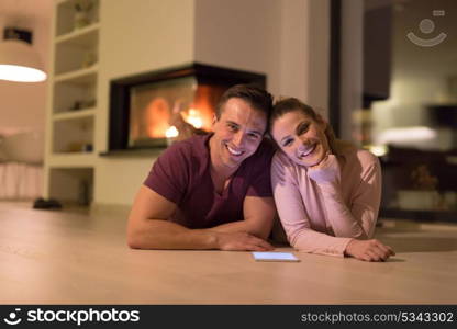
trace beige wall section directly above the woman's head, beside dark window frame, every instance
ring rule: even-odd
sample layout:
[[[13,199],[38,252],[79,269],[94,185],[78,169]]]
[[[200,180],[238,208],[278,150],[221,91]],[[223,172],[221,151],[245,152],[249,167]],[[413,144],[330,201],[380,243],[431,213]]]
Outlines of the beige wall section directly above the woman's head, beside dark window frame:
[[[282,0],[279,92],[328,116],[330,1]]]

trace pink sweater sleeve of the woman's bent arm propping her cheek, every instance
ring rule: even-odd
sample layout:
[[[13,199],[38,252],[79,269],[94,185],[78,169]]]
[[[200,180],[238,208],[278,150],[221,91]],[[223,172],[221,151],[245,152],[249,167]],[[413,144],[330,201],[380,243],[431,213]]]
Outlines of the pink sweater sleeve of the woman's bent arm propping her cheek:
[[[381,169],[379,160],[369,155],[363,166],[361,175],[354,178],[359,183],[352,195],[350,205],[343,200],[339,182],[320,184],[325,211],[337,237],[370,239],[375,234],[381,201]]]

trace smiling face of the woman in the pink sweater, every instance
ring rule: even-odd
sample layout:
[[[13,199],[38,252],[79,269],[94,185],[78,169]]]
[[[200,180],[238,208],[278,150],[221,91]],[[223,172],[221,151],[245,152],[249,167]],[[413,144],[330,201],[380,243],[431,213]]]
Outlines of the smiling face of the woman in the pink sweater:
[[[271,135],[281,150],[296,163],[311,167],[320,163],[330,151],[326,123],[297,110],[275,120]]]

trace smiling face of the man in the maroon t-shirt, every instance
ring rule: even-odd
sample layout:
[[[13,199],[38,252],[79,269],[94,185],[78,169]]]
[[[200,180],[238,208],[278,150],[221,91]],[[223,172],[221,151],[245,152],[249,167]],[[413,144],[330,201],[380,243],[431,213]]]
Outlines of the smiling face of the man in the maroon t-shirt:
[[[211,161],[215,167],[236,169],[258,148],[267,128],[267,116],[246,101],[232,98],[225,102],[213,123]]]

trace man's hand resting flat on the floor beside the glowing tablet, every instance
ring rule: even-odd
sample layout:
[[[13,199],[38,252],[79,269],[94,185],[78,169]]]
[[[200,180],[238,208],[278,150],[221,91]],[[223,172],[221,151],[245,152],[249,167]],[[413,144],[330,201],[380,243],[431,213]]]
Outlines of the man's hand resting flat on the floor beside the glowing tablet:
[[[275,248],[267,241],[247,232],[218,232],[216,245],[225,251],[269,251]]]

